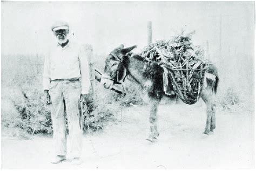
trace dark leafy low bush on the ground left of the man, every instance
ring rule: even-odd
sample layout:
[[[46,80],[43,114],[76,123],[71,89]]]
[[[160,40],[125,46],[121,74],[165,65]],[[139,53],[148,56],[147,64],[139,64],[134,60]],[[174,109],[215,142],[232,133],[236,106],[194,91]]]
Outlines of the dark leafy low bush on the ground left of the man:
[[[6,111],[2,111],[2,124],[5,127],[21,128],[29,134],[52,134],[50,111],[42,97],[43,92],[38,91],[32,85],[29,88],[24,86],[20,90],[16,89],[15,92],[9,93],[8,100],[15,109],[15,113],[7,114]],[[4,108],[9,107],[4,106]],[[8,124],[10,119],[8,121],[6,118],[11,118],[11,124]]]

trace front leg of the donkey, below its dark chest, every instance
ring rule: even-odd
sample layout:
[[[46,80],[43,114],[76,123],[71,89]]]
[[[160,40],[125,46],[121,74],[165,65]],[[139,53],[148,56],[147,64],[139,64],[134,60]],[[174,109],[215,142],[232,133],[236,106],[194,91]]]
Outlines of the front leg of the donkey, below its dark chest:
[[[152,100],[150,102],[150,134],[146,140],[151,142],[156,142],[157,137],[159,136],[159,132],[157,130],[157,109],[158,109],[159,101]]]

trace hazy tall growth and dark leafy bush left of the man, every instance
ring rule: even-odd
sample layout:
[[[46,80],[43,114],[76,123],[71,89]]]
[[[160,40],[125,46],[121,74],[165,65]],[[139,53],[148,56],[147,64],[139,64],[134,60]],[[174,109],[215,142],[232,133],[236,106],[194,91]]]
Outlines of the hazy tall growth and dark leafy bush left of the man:
[[[42,69],[43,58],[39,56],[2,57],[2,128],[52,133],[50,111],[42,99]]]

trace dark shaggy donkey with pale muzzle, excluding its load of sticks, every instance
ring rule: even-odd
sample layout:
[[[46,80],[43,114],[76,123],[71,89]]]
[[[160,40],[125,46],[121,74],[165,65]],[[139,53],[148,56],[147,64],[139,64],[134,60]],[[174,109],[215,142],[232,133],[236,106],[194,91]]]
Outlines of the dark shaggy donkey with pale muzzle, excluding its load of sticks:
[[[124,45],[118,46],[105,59],[105,69],[101,84],[111,88],[113,84],[122,83],[125,78],[137,84],[142,91],[143,100],[150,106],[150,133],[146,140],[156,142],[159,132],[157,129],[157,109],[163,95],[163,68],[156,63],[147,63],[139,54],[131,51],[136,48]],[[204,134],[213,133],[215,128],[216,92],[218,87],[218,73],[214,65],[206,70],[204,87],[200,94],[207,106],[207,120]],[[211,76],[207,77],[206,75]]]

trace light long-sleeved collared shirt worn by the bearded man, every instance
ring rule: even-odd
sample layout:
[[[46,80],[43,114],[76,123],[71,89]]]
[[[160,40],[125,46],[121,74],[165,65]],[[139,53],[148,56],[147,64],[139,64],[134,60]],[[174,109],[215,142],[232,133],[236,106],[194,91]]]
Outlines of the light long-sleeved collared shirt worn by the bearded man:
[[[65,47],[56,45],[45,56],[43,87],[49,90],[51,80],[80,78],[82,94],[90,88],[89,64],[87,58],[92,56],[92,46],[79,46],[68,43]]]

